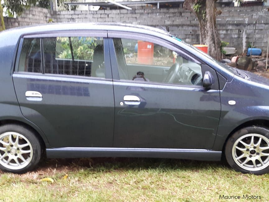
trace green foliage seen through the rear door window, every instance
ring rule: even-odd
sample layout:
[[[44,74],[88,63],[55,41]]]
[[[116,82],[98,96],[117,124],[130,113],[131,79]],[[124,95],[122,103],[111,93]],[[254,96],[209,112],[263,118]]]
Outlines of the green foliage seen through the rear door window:
[[[75,60],[93,60],[94,48],[98,43],[94,37],[71,37]],[[56,58],[72,59],[68,37],[57,37]]]

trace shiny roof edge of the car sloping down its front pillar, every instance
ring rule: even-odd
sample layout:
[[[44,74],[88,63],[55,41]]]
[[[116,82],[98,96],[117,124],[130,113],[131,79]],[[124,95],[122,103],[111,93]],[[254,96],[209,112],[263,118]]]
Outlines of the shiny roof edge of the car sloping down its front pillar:
[[[171,37],[169,32],[155,28],[150,26],[144,25],[134,25],[134,24],[124,24],[124,23],[93,23],[93,22],[78,22],[78,23],[49,23],[49,24],[40,24],[40,25],[32,25],[32,26],[24,26],[24,27],[16,27],[12,29],[7,29],[5,31],[0,32],[0,36],[2,35],[4,38],[5,36],[10,38],[19,38],[23,35],[31,35],[31,34],[40,34],[40,33],[48,33],[48,32],[57,32],[57,31],[87,31],[87,30],[94,30],[94,31],[123,31],[123,32],[134,32],[140,34],[148,34],[151,36],[156,36],[163,38],[167,41],[170,41],[174,44],[181,46],[183,49],[189,51],[193,55],[198,56],[200,59],[206,61],[207,64],[219,66],[215,61],[211,60],[207,56],[200,54],[197,55],[197,50],[190,47],[182,41],[178,41]],[[1,40],[0,40],[1,41]],[[17,40],[16,40],[17,41]],[[6,45],[4,41],[3,46]],[[220,66],[219,66],[220,67]],[[219,69],[219,68],[218,68]],[[220,68],[221,72],[225,75],[229,75],[229,79],[231,80],[234,75],[226,70],[225,68]]]

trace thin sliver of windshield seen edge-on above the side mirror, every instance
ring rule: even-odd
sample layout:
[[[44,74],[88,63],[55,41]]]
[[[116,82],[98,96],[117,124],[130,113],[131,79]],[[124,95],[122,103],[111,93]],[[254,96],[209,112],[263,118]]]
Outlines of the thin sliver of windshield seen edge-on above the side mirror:
[[[192,49],[195,49],[196,51],[198,51],[199,53],[201,53],[202,55],[204,55],[205,57],[207,57],[208,59],[210,60],[213,60],[215,63],[217,63],[218,65],[222,66],[223,68],[225,68],[226,70],[228,70],[229,72],[233,73],[233,74],[236,74],[244,79],[247,79],[248,78],[248,75],[245,74],[243,71],[241,70],[238,70],[237,68],[234,68],[234,67],[230,67],[226,64],[223,64],[221,62],[219,62],[218,60],[215,60],[213,57],[211,57],[210,55],[206,54],[205,52],[203,52],[202,50],[196,48],[195,46],[192,46],[186,42],[184,42],[182,39],[178,38],[177,36],[174,36],[172,34],[170,34],[169,36],[171,36],[173,39],[176,39],[177,41],[180,41],[182,43],[184,43],[186,46],[189,46],[191,47]]]

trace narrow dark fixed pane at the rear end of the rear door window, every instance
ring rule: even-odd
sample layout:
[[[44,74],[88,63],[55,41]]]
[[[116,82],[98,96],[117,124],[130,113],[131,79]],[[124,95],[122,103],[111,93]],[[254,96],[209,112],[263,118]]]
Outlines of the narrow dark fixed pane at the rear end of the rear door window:
[[[40,39],[24,39],[19,61],[19,71],[42,73]]]

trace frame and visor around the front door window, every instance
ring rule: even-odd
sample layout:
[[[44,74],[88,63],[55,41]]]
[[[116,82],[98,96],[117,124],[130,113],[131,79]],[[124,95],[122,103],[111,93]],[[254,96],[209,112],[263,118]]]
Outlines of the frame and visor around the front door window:
[[[131,36],[131,37],[130,37]],[[114,47],[113,38],[124,38],[124,39],[135,39],[135,40],[144,40],[149,41],[155,44],[158,44],[160,46],[164,46],[169,48],[170,50],[173,50],[175,52],[180,52],[182,55],[184,55],[186,58],[191,58],[193,62],[196,62],[200,65],[205,64],[202,60],[197,58],[195,55],[192,55],[191,53],[187,52],[186,50],[182,49],[181,47],[177,46],[176,44],[171,43],[170,41],[166,41],[165,39],[156,37],[156,36],[150,36],[147,34],[140,34],[140,33],[130,33],[130,32],[118,32],[118,31],[108,31],[108,41],[109,41],[109,50],[111,54],[111,69],[112,69],[112,75],[113,80],[117,82],[131,82],[132,80],[120,80],[119,71],[118,71],[118,63],[116,58],[116,51]],[[171,48],[170,48],[171,47]],[[183,57],[183,56],[182,56]],[[185,58],[183,57],[183,58]],[[186,59],[185,58],[185,59]],[[201,67],[202,69],[202,67]],[[202,70],[201,70],[202,71]],[[203,71],[202,71],[203,72]],[[143,81],[136,81],[136,83],[144,84]],[[187,84],[168,84],[168,83],[159,83],[159,82],[147,82],[154,85],[172,85],[172,86],[185,86],[185,87],[191,87],[191,88],[203,88],[201,85],[187,85]]]

